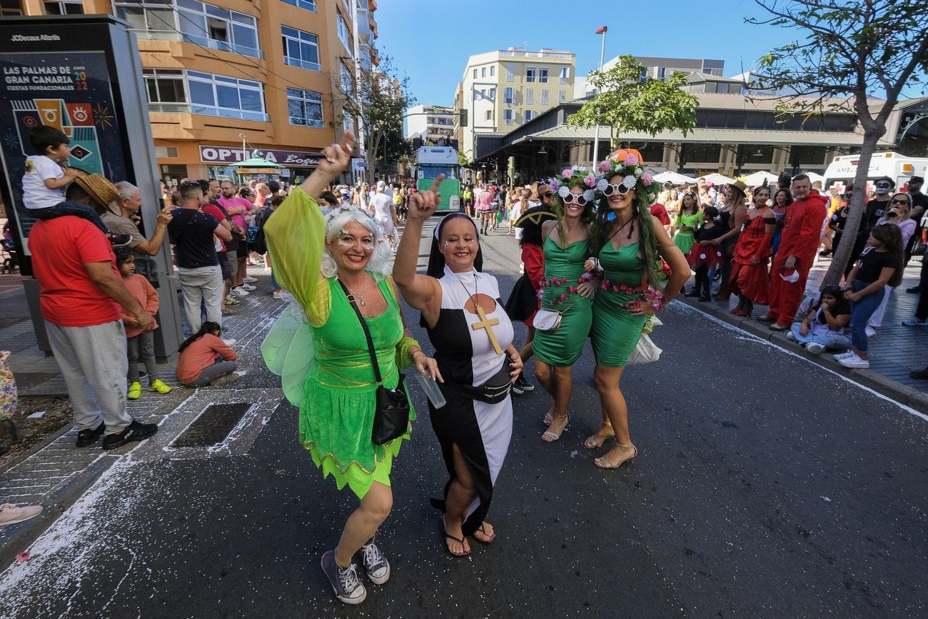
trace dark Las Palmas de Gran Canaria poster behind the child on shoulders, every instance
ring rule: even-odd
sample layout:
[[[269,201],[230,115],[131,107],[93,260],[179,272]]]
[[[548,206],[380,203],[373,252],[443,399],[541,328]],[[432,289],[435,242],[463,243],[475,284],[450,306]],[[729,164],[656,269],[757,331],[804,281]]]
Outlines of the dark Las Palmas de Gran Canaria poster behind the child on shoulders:
[[[22,202],[22,175],[32,151],[29,132],[41,124],[68,136],[67,165],[125,179],[125,160],[104,52],[0,54],[0,155],[13,196],[23,247],[35,219]]]

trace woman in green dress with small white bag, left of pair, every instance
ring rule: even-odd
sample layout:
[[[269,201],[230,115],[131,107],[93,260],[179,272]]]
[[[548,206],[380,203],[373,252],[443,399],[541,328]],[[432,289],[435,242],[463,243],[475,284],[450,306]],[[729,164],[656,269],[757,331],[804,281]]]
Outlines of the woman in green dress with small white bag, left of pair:
[[[557,330],[535,332],[535,376],[554,398],[545,417],[548,430],[541,435],[548,443],[560,439],[570,422],[567,406],[574,393],[571,367],[583,352],[589,333],[589,297],[595,290],[592,275],[586,275],[584,269],[589,257],[589,227],[584,220],[592,216],[593,194],[585,179],[591,174],[571,171],[570,176],[555,176],[559,184],[555,202],[558,219],[542,226],[545,277],[541,281],[541,308],[561,312]]]

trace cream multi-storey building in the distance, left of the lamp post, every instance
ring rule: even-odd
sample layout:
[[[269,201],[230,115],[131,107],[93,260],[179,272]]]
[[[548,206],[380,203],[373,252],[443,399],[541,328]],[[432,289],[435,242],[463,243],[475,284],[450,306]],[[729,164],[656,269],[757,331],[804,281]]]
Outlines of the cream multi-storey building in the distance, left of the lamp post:
[[[505,134],[573,98],[576,55],[543,47],[509,47],[468,58],[455,93],[455,113],[467,110],[469,126],[456,117],[461,151],[473,157],[474,135]]]

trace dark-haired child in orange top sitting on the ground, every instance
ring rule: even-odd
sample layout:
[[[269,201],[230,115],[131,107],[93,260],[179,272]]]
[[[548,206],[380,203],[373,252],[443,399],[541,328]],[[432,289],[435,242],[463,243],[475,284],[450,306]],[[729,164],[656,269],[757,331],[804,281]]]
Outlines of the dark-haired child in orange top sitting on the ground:
[[[220,385],[238,380],[238,355],[220,339],[222,328],[209,320],[180,345],[177,380],[187,387]]]

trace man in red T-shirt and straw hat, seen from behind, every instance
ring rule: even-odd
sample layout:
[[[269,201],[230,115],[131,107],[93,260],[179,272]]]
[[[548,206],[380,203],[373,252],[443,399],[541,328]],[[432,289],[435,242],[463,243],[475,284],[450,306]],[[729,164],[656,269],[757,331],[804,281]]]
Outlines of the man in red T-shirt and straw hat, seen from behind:
[[[119,192],[100,174],[90,174],[71,183],[65,197],[102,212]],[[92,445],[104,433],[104,449],[148,438],[158,425],[139,423],[126,410],[120,305],[144,330],[154,319],[122,284],[109,239],[89,221],[64,216],[37,221],[29,248],[48,342],[74,410],[77,446]]]

